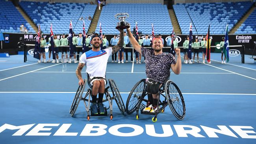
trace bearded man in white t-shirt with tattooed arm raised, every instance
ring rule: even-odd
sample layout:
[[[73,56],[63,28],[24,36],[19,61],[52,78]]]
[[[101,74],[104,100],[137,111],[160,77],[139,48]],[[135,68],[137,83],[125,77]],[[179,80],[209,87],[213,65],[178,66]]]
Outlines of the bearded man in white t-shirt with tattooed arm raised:
[[[117,42],[117,45],[113,46],[112,48],[106,48],[104,50],[100,50],[100,44],[102,43],[102,40],[100,39],[100,36],[98,33],[95,33],[91,37],[91,44],[93,48],[85,53],[83,53],[80,57],[79,64],[76,69],[76,76],[79,79],[78,84],[83,85],[83,78],[81,71],[83,69],[83,66],[86,65],[86,72],[89,74],[88,82],[93,86],[92,88],[92,104],[91,104],[91,113],[92,114],[104,114],[105,109],[104,105],[102,103],[102,99],[104,96],[105,91],[105,85],[106,85],[106,68],[107,68],[107,62],[108,57],[112,54],[115,54],[118,52],[124,43],[124,31],[120,31],[120,38]],[[98,96],[98,102],[97,94],[99,92]]]

